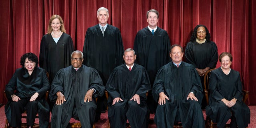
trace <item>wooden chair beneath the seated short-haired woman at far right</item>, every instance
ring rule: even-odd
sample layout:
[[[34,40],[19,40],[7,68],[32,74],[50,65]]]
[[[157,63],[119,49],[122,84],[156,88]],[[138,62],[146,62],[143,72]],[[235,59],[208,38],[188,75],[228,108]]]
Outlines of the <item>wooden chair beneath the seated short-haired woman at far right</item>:
[[[207,105],[209,105],[209,99],[208,99],[208,96],[210,95],[209,77],[211,75],[212,70],[215,70],[215,68],[208,70],[204,75],[204,88],[205,88],[204,93],[205,93]],[[246,90],[243,90],[243,102],[246,102],[246,100],[248,99],[248,96],[249,96],[249,92]],[[225,127],[230,128],[230,124],[226,124]],[[216,123],[214,123],[212,119],[210,119],[208,116],[206,116],[206,128],[217,128]]]

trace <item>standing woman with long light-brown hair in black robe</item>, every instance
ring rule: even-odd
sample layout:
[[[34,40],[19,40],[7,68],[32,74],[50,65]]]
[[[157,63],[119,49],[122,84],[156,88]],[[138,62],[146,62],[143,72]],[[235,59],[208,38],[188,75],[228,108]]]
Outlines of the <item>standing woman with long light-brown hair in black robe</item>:
[[[70,35],[66,34],[63,20],[59,15],[53,15],[48,24],[48,31],[42,37],[40,44],[39,65],[50,77],[50,83],[58,70],[71,65],[71,53],[74,44]]]

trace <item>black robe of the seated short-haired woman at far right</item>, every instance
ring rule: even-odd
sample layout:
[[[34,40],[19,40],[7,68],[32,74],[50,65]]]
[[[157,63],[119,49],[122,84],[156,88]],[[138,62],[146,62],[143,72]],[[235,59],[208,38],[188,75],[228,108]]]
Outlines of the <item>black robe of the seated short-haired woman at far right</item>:
[[[245,128],[250,123],[250,109],[242,101],[242,82],[239,72],[232,70],[228,75],[224,74],[221,68],[213,70],[209,78],[209,106],[206,107],[206,115],[213,122],[217,122],[219,128],[224,128],[228,122],[231,112],[236,118],[238,128]],[[236,98],[236,104],[228,108],[221,99],[232,100]]]

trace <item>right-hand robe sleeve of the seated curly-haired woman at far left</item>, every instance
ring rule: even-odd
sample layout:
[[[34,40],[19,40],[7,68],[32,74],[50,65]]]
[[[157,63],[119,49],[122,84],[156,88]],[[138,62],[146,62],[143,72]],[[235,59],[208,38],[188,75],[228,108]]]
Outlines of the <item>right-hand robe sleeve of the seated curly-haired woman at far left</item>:
[[[40,98],[45,96],[46,91],[48,91],[50,89],[49,79],[46,75],[45,70],[43,70],[43,72],[42,72],[42,80],[41,81],[42,81],[42,88],[40,88],[39,90],[36,91],[36,92],[38,92]]]

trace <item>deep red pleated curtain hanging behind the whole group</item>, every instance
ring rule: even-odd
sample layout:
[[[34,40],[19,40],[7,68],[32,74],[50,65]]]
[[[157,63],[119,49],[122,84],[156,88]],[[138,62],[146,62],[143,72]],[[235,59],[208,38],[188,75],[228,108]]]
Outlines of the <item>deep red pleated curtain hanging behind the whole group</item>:
[[[108,24],[120,29],[125,49],[133,48],[136,33],[148,25],[146,12],[150,9],[158,10],[158,27],[168,32],[171,45],[185,48],[193,28],[204,24],[218,53],[233,55],[231,68],[240,72],[244,89],[250,91],[249,103],[256,105],[255,0],[1,0],[0,103],[6,103],[3,90],[21,67],[22,54],[39,56],[50,16],[62,16],[75,50],[82,51],[86,30],[98,24],[96,11],[102,6],[109,10]]]

